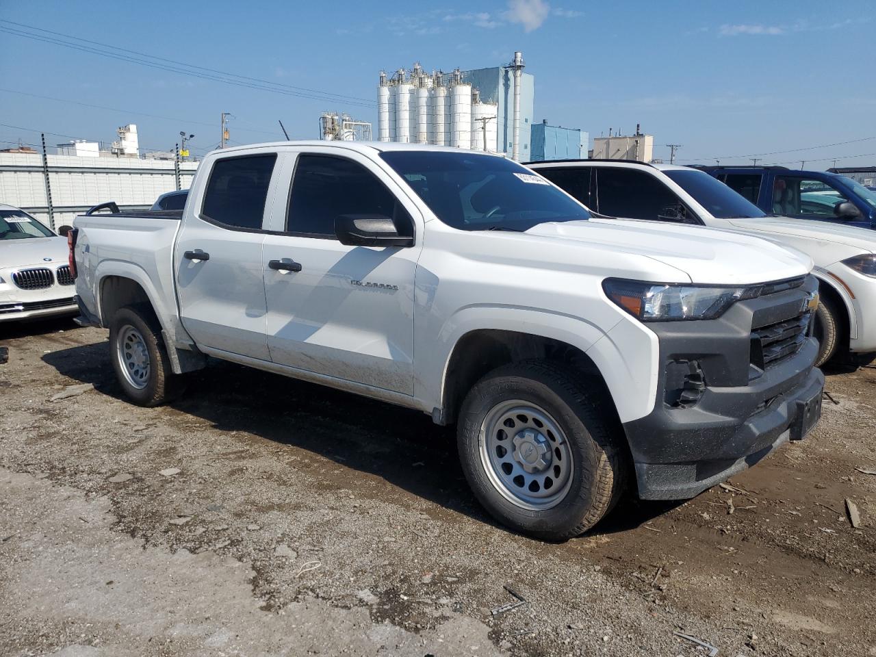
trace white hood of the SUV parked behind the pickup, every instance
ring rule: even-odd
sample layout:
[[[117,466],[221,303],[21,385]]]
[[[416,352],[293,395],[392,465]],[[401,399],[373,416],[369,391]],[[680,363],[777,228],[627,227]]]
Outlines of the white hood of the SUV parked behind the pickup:
[[[814,258],[816,265],[819,266],[830,265],[831,262],[861,253],[876,252],[876,231],[857,226],[844,226],[813,219],[792,219],[788,216],[728,221],[732,226],[758,233],[763,237],[781,238],[783,244],[787,243],[795,249],[804,251]],[[840,248],[830,249],[831,245]],[[819,251],[825,251],[827,258],[820,257]],[[835,252],[841,252],[843,255],[837,257]]]

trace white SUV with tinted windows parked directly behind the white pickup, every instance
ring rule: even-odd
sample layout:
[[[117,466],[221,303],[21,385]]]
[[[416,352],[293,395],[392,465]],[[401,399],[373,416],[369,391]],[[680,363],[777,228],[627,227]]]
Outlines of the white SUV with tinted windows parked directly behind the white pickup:
[[[821,296],[816,365],[876,351],[876,236],[838,223],[768,216],[708,173],[687,166],[619,160],[533,162],[532,169],[604,215],[745,230],[803,251],[815,262]],[[813,203],[835,202],[810,193]],[[822,201],[823,200],[823,201]],[[740,266],[747,265],[745,259]]]

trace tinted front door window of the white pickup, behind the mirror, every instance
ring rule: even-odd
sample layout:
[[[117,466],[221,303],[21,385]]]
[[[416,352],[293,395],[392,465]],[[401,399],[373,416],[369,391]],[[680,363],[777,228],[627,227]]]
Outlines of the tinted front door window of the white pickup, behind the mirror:
[[[335,237],[340,215],[383,215],[399,235],[413,236],[413,221],[395,195],[364,166],[327,155],[300,155],[295,165],[286,231]]]

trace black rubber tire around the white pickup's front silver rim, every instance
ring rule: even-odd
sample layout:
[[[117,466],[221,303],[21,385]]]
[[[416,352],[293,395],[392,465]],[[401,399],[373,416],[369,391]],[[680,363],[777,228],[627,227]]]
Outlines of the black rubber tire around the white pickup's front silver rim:
[[[569,442],[574,463],[565,484],[569,488],[550,508],[525,508],[512,501],[507,493],[511,487],[500,491],[501,484],[494,481],[501,475],[484,463],[491,458],[482,456],[490,430],[484,423],[495,417],[494,409],[517,399],[546,411]],[[465,477],[481,505],[505,526],[541,540],[568,540],[596,525],[618,501],[626,466],[621,427],[614,413],[606,413],[605,406],[600,410],[600,399],[576,371],[548,361],[505,365],[478,381],[459,413],[458,447]]]

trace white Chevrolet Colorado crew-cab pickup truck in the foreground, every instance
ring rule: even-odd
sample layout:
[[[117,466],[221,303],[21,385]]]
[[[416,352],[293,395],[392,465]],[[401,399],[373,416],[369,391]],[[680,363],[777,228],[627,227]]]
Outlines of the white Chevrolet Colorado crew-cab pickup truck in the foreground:
[[[589,529],[627,478],[693,497],[820,414],[809,258],[591,220],[485,153],[226,149],[181,219],[82,215],[69,239],[81,313],[135,403],[210,356],[416,408],[456,422],[484,507],[544,539]]]

